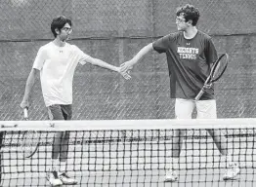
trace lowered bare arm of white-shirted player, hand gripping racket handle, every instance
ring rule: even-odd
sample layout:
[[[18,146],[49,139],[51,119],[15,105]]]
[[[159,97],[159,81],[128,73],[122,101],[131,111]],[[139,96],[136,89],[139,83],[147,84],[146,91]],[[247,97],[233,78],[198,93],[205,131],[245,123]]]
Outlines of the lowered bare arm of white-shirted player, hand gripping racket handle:
[[[21,101],[21,108],[29,107],[29,98],[31,96],[32,88],[35,83],[35,79],[39,76],[39,70],[32,68],[25,84],[24,96]]]

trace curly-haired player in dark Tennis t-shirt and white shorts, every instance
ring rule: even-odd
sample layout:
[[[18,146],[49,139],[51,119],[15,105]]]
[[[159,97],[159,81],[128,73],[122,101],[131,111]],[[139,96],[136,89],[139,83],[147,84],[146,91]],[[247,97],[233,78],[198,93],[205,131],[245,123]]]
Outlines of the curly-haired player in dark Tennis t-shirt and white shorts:
[[[212,63],[218,57],[216,49],[211,37],[196,28],[199,19],[197,8],[187,4],[177,9],[176,16],[178,32],[168,34],[145,46],[131,60],[122,64],[121,71],[132,69],[133,65],[151,51],[165,53],[170,76],[171,98],[175,98],[176,119],[192,119],[194,107],[197,111],[197,119],[216,119],[214,88],[209,88],[199,100],[194,100],[210,74]],[[225,136],[221,131],[207,131],[227,162],[228,168],[223,179],[234,179],[240,169],[233,162]],[[171,163],[165,176],[165,180],[171,182],[178,179],[175,168],[179,167],[185,131],[176,130],[174,133]]]

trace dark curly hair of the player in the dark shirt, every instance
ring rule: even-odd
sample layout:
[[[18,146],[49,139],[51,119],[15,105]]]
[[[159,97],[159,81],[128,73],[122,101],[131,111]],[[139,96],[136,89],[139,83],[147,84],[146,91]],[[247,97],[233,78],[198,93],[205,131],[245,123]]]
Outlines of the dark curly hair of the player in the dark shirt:
[[[192,20],[192,25],[195,26],[200,17],[199,10],[192,5],[185,5],[183,7],[177,8],[176,16],[184,16],[186,22]]]

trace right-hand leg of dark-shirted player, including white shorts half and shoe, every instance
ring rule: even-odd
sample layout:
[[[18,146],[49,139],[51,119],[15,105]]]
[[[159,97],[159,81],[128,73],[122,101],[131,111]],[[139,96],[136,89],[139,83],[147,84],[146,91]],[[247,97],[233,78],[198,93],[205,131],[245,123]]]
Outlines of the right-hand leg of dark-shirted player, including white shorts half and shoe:
[[[197,118],[198,119],[216,119],[217,110],[216,110],[216,101],[215,100],[198,100],[196,102],[197,109]],[[228,141],[227,138],[218,130],[207,130],[211,137],[213,138],[214,143],[219,149],[222,156],[225,157],[226,163],[228,164],[228,169],[224,174],[224,179],[233,179],[240,171],[238,166],[233,163],[232,156],[228,150]]]

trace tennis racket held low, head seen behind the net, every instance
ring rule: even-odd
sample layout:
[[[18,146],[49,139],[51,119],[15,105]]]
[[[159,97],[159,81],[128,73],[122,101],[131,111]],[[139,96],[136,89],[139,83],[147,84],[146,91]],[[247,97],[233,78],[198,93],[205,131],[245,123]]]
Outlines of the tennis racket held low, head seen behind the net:
[[[28,120],[27,108],[23,109],[24,119]],[[39,147],[39,133],[37,131],[24,131],[21,137],[21,151],[24,158],[31,158]]]

